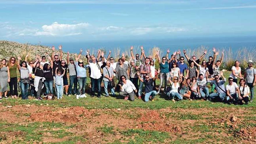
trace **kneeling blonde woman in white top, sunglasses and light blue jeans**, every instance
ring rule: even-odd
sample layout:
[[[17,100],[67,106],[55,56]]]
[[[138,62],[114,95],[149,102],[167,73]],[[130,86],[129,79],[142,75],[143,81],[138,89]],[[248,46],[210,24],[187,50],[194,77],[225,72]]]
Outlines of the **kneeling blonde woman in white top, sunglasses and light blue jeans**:
[[[175,102],[175,99],[182,100],[182,95],[179,94],[179,84],[182,82],[182,79],[179,79],[177,76],[174,76],[173,78],[169,78],[170,91],[167,93],[169,99],[171,99],[173,102]]]

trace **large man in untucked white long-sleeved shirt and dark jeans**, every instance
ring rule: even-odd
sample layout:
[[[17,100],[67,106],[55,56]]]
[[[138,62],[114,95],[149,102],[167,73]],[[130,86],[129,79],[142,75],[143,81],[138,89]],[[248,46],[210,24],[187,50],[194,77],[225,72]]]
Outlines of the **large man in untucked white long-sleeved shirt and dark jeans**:
[[[89,55],[87,57],[89,57]],[[91,84],[92,84],[91,97],[94,97],[97,89],[97,97],[100,98],[100,95],[101,95],[100,85],[101,85],[101,77],[102,77],[101,68],[99,66],[99,63],[96,62],[95,57],[93,57],[91,60],[92,60],[92,63],[90,63],[89,58],[87,58],[87,63],[91,69],[91,73],[90,73]]]

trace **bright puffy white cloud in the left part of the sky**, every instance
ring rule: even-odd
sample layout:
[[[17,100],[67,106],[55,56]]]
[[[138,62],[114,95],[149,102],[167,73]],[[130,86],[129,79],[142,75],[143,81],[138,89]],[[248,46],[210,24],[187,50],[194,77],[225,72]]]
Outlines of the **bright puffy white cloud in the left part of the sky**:
[[[80,35],[88,26],[88,23],[59,24],[54,22],[51,25],[43,25],[42,31],[36,32],[35,35]]]

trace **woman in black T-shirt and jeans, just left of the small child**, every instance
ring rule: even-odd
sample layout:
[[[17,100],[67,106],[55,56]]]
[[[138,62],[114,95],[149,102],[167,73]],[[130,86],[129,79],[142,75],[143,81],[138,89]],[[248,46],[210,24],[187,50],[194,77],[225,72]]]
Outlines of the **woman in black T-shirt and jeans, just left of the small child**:
[[[46,94],[53,94],[53,75],[52,75],[52,67],[53,67],[53,61],[51,60],[51,57],[48,57],[51,65],[48,63],[44,64],[43,70],[44,70],[44,77],[45,77],[45,88],[46,88]]]

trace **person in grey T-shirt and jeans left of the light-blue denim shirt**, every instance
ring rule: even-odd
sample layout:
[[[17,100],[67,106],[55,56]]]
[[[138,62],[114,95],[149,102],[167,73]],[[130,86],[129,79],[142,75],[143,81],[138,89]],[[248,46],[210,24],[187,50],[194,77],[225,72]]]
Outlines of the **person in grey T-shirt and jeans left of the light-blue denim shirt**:
[[[82,53],[82,49],[80,50],[80,53]],[[69,52],[67,52],[67,67],[69,71],[69,86],[67,90],[67,95],[77,94],[77,70],[76,70],[76,63],[77,61],[74,61],[74,58],[70,58]],[[72,93],[72,87],[74,85],[74,93]]]

